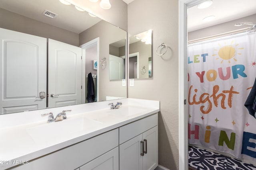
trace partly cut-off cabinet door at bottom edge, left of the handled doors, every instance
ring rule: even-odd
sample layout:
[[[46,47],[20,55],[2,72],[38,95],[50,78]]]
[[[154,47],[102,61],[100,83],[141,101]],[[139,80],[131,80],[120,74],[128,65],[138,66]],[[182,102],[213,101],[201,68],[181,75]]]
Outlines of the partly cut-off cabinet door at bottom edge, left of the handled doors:
[[[119,170],[118,147],[80,166],[80,170]]]

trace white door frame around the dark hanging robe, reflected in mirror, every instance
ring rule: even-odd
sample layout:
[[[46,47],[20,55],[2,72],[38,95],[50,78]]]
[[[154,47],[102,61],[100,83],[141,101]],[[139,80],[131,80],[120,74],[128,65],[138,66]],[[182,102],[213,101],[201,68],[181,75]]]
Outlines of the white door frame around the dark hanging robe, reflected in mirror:
[[[91,41],[88,41],[87,43],[84,43],[80,45],[79,47],[82,48],[82,103],[86,102],[86,72],[85,72],[85,57],[86,57],[86,49],[92,47],[93,45],[97,45],[97,102],[99,102],[99,93],[100,93],[100,67],[99,67],[99,61],[100,61],[100,37],[97,37]]]

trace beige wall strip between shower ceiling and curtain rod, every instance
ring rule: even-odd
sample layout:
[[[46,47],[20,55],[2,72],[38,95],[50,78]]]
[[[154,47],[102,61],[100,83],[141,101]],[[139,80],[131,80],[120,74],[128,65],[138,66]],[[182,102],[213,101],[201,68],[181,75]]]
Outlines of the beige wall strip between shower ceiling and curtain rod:
[[[240,18],[237,20],[232,20],[229,22],[221,23],[218,25],[214,25],[211,27],[198,29],[196,31],[191,31],[188,33],[188,41],[194,40],[194,39],[200,39],[200,38],[204,38],[204,37],[208,37],[208,36],[212,36],[212,35],[218,35],[218,34],[230,32],[230,31],[236,31],[237,29],[250,27],[250,25],[244,25],[244,26],[240,26],[240,27],[234,26],[236,23],[240,23],[240,22],[256,23],[256,14],[247,16],[244,18]]]

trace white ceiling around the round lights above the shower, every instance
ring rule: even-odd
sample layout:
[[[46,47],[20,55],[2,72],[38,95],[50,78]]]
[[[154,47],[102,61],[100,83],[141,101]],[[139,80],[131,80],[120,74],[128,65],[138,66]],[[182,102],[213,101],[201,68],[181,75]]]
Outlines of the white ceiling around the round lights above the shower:
[[[134,0],[123,1],[130,4]],[[252,14],[256,14],[256,0],[213,0],[212,5],[206,9],[198,9],[197,6],[188,9],[188,32]],[[216,18],[211,22],[203,22],[207,16]]]

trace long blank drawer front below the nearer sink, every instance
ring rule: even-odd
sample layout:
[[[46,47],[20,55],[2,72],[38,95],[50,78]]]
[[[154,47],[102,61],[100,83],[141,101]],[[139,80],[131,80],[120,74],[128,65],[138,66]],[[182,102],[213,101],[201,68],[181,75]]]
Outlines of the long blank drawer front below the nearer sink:
[[[118,146],[118,129],[29,161],[15,170],[74,170]]]

